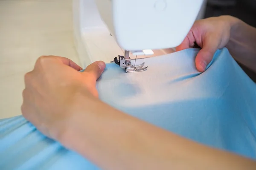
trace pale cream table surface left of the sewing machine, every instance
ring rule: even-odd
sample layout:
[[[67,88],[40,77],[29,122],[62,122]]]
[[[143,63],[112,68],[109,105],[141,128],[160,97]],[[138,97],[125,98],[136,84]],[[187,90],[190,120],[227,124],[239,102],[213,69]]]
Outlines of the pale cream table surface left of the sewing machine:
[[[41,55],[79,64],[72,0],[0,0],[0,119],[21,114],[23,76]]]

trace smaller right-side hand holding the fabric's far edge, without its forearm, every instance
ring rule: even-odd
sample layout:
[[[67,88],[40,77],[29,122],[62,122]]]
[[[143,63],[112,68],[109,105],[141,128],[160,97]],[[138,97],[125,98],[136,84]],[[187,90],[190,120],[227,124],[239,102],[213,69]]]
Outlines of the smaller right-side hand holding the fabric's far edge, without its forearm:
[[[204,72],[214,53],[227,45],[230,39],[231,23],[234,19],[236,18],[231,16],[220,16],[195,21],[176,51],[193,48],[196,42],[201,50],[196,56],[195,65],[198,71]]]

